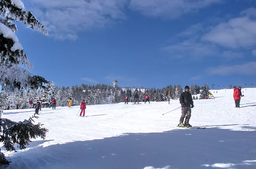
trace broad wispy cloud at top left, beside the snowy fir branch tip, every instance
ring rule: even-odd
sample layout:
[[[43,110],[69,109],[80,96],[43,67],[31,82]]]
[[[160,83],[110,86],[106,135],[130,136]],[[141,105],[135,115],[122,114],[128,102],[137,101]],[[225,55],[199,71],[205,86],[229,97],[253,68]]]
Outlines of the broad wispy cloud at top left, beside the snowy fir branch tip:
[[[76,39],[77,32],[102,28],[124,18],[126,0],[33,0],[28,7],[58,39]]]

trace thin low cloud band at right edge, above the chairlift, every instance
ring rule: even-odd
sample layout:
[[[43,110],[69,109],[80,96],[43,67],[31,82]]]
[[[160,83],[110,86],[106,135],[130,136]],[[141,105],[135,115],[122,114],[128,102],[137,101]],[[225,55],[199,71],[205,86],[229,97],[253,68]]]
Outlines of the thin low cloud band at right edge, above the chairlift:
[[[220,65],[218,67],[212,67],[207,70],[212,75],[255,75],[256,74],[256,62],[248,62],[239,65]]]

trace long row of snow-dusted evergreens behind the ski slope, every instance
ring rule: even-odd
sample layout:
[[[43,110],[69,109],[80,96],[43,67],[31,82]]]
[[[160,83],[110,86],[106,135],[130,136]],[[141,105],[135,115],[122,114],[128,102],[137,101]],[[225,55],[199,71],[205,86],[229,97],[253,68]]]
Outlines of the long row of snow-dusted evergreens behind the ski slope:
[[[17,105],[20,108],[28,108],[29,101],[34,103],[41,98],[43,102],[51,104],[53,97],[57,100],[57,106],[68,106],[68,98],[72,98],[72,106],[79,106],[81,100],[85,100],[87,105],[100,104],[100,100],[110,99],[111,103],[120,103],[125,101],[125,97],[129,97],[129,102],[134,102],[134,95],[138,93],[140,102],[148,94],[150,101],[167,101],[170,99],[176,99],[176,87],[177,87],[177,99],[180,98],[180,94],[183,92],[181,85],[168,85],[162,89],[154,88],[114,88],[111,85],[97,84],[97,85],[75,85],[71,87],[58,87],[54,85],[54,82],[47,84],[44,89],[28,89],[27,91],[21,91],[18,94],[7,94],[4,91],[0,92],[0,106],[16,109]],[[206,83],[204,87],[199,85],[191,85],[190,92],[192,95],[199,94],[199,99],[205,99],[208,96],[209,87]],[[196,99],[196,98],[195,98]]]

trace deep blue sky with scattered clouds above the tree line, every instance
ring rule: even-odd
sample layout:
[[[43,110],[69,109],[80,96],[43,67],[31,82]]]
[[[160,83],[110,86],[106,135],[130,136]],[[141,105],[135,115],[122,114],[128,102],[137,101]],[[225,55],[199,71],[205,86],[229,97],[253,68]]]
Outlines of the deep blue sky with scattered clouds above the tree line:
[[[256,85],[254,0],[23,3],[49,32],[18,24],[30,71],[55,85]]]

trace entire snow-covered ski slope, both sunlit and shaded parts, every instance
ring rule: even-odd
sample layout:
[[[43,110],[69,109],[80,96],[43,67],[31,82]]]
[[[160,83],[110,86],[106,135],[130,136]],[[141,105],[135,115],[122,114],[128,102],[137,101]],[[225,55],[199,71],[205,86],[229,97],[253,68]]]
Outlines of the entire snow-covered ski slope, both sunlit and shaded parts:
[[[179,100],[42,108],[35,123],[49,132],[25,150],[6,152],[6,168],[200,169],[256,168],[256,88],[247,88],[235,108],[233,90],[215,99],[194,100],[189,123],[206,129],[180,129]],[[23,121],[34,109],[6,110],[2,118]],[[78,115],[77,115],[78,114]]]

